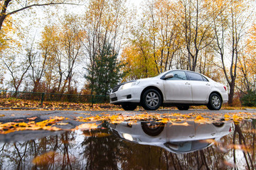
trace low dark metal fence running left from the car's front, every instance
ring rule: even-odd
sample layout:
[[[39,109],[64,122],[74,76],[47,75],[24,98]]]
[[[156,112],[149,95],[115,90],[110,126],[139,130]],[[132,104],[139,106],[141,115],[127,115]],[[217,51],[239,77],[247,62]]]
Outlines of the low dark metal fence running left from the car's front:
[[[49,94],[26,91],[0,91],[0,98],[21,98],[32,101],[67,101],[73,103],[107,103],[108,96],[80,94]]]

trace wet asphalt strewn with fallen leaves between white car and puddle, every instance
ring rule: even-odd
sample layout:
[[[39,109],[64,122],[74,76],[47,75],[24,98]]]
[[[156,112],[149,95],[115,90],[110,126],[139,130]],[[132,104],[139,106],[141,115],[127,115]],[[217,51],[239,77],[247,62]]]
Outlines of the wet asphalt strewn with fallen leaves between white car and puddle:
[[[63,130],[70,130],[78,125],[84,123],[76,121],[77,117],[90,117],[93,115],[136,115],[136,114],[144,114],[144,113],[181,113],[181,114],[189,114],[189,113],[208,113],[208,114],[216,114],[218,115],[225,113],[255,113],[256,110],[220,110],[220,111],[209,111],[209,110],[200,110],[200,109],[191,109],[188,111],[178,111],[178,110],[158,110],[158,111],[0,111],[0,123],[8,123],[8,122],[28,122],[27,118],[37,117],[36,122],[41,122],[43,120],[48,120],[50,117],[55,116],[63,116],[68,118],[67,120],[63,120],[63,123],[68,123],[67,125],[55,125],[57,128],[62,128]],[[27,140],[34,140],[40,137],[45,137],[49,135],[58,135],[63,133],[64,131],[48,131],[48,130],[23,130],[11,132],[6,135],[0,134],[0,143],[1,142],[20,142]]]

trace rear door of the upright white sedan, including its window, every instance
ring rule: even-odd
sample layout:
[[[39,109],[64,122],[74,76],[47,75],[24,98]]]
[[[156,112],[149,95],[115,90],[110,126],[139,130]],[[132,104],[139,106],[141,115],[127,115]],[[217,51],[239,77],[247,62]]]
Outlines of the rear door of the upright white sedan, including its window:
[[[186,72],[192,88],[193,103],[205,103],[208,101],[212,84],[201,74]]]

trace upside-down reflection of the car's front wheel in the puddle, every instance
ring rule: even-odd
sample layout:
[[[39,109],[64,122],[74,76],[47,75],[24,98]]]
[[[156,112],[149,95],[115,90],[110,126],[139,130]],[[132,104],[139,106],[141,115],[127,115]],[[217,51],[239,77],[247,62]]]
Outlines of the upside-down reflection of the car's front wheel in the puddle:
[[[142,130],[149,136],[157,136],[164,130],[164,123],[142,122]]]

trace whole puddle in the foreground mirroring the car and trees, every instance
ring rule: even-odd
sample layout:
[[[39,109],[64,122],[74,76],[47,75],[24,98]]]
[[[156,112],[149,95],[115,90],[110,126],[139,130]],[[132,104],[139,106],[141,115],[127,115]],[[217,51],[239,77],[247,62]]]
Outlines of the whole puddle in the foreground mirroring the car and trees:
[[[254,169],[255,124],[102,123],[0,135],[0,169]]]

